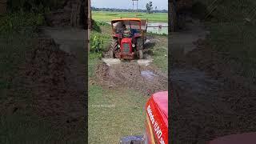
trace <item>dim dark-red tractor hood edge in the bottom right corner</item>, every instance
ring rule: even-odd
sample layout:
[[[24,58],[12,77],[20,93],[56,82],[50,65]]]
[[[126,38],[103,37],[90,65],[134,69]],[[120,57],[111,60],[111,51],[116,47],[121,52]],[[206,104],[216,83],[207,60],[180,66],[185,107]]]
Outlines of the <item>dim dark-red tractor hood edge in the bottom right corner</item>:
[[[221,138],[216,138],[208,144],[254,144],[256,143],[256,133],[231,134]]]

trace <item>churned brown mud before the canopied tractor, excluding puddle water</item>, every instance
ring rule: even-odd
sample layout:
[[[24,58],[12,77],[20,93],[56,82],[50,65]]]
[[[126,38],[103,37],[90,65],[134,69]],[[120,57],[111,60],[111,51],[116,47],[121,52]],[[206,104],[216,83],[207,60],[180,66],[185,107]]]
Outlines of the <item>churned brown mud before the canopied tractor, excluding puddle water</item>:
[[[158,76],[146,78],[145,71]],[[128,88],[138,90],[143,94],[153,94],[157,91],[168,90],[167,74],[162,74],[152,66],[140,66],[138,63],[122,62],[118,65],[98,65],[95,72],[98,82],[108,88]]]

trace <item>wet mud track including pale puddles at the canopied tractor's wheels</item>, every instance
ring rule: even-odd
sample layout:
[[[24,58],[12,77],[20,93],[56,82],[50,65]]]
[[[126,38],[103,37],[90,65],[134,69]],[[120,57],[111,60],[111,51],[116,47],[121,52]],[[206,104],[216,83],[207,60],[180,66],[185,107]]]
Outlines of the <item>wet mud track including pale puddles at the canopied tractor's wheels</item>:
[[[109,58],[106,52],[95,71],[97,82],[106,88],[138,90],[146,95],[168,90],[168,74],[152,64],[154,59],[151,54],[157,42],[160,42],[158,38],[147,37],[143,59],[126,61]]]

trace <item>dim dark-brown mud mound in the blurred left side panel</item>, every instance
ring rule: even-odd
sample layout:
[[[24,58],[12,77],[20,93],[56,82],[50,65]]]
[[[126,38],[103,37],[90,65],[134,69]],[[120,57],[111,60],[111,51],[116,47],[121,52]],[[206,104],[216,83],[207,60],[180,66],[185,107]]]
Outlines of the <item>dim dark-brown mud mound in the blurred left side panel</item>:
[[[77,67],[74,67],[77,66]],[[33,94],[33,108],[54,126],[85,124],[83,66],[60,50],[53,39],[42,38],[26,61],[26,76]]]

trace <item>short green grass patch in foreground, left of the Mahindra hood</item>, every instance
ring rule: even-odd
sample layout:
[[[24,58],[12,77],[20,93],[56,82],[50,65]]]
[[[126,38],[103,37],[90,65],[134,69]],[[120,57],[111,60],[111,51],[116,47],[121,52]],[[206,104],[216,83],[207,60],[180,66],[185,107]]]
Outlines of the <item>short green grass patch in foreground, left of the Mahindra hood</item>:
[[[89,89],[89,143],[118,143],[144,134],[146,96],[134,90]]]

